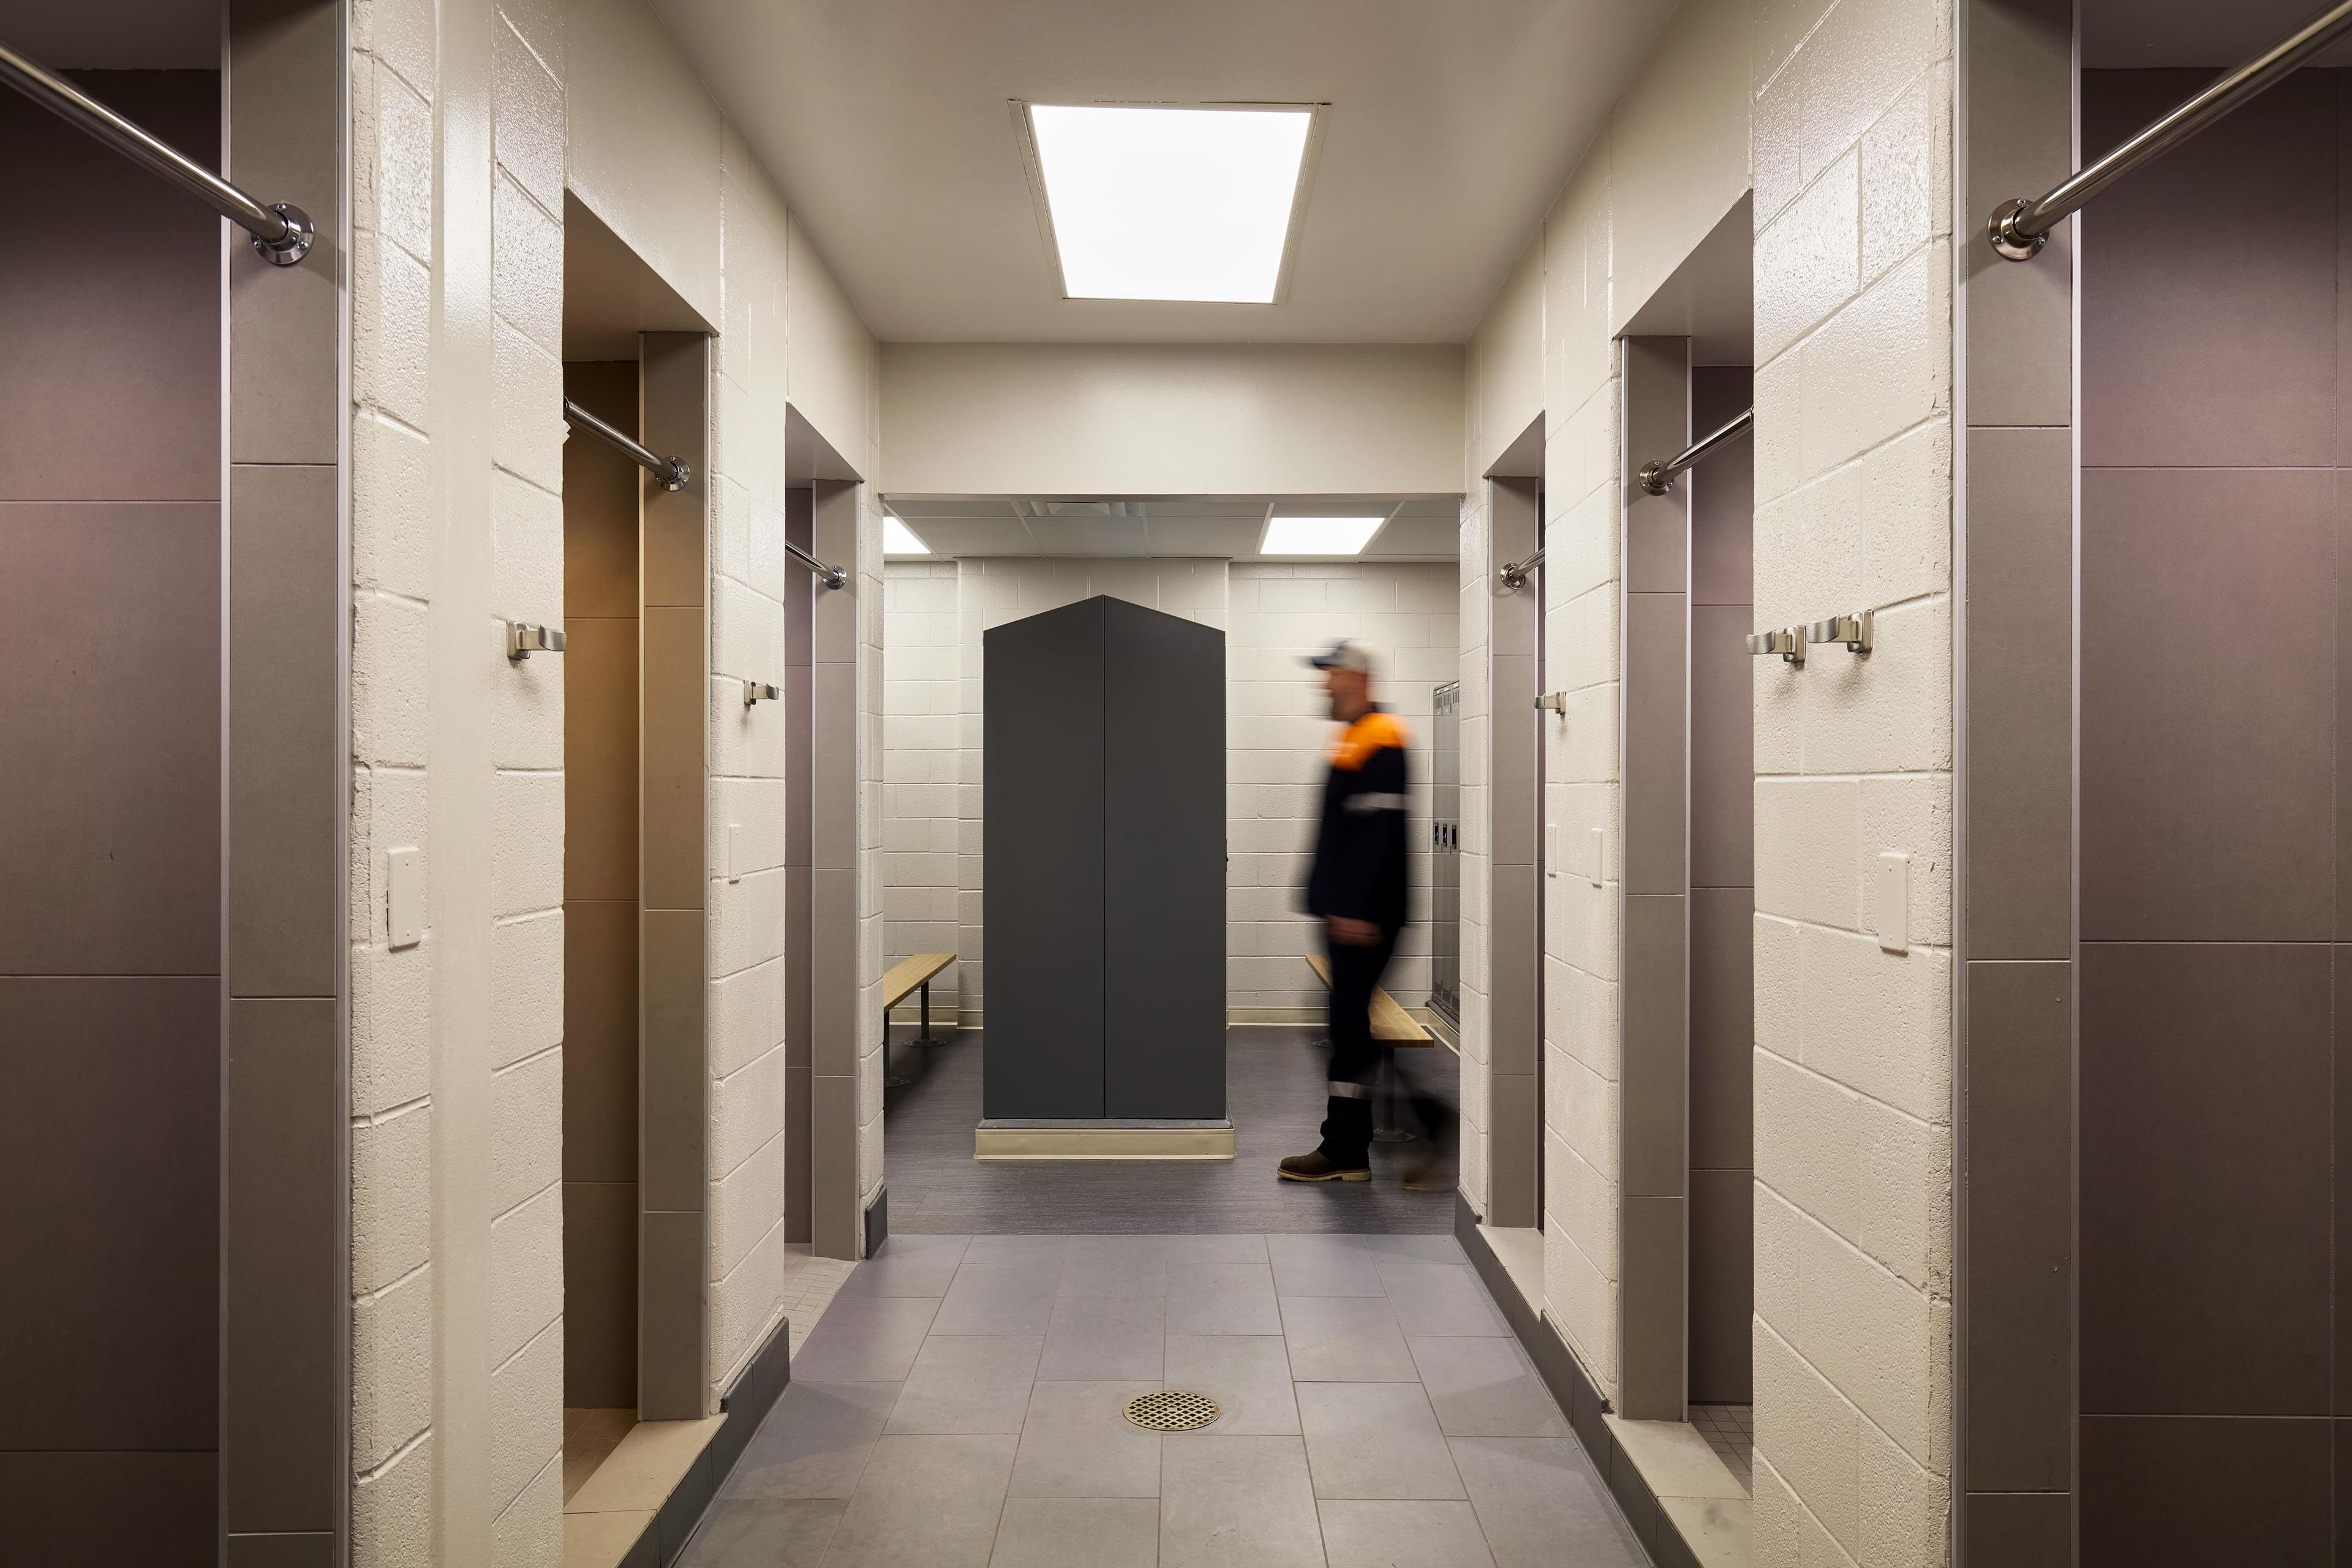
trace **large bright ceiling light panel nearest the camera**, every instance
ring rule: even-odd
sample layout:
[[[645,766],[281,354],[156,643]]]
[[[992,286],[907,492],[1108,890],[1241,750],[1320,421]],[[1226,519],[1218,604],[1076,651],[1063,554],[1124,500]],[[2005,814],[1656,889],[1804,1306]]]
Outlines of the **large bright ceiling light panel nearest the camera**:
[[[1028,115],[1063,294],[1272,303],[1312,108]]]

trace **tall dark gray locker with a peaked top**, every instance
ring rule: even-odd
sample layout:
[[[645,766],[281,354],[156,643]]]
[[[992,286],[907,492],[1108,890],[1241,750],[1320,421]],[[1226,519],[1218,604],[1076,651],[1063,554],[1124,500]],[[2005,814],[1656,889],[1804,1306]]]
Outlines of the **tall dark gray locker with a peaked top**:
[[[1225,1117],[1225,637],[1084,599],[983,637],[990,1121]]]

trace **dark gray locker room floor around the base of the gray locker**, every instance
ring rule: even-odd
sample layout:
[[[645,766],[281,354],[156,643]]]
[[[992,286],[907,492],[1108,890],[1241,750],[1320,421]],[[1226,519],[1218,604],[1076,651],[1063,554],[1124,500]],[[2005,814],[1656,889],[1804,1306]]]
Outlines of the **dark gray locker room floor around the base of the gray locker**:
[[[891,1234],[1141,1232],[1451,1232],[1454,1194],[1406,1192],[1399,1173],[1421,1143],[1376,1143],[1369,1182],[1284,1182],[1275,1161],[1305,1154],[1324,1114],[1322,1030],[1225,1030],[1232,1161],[976,1161],[981,1030],[950,1030],[936,1051],[891,1030],[891,1070],[913,1079],[884,1100]],[[1461,1105],[1461,1065],[1444,1046],[1397,1051],[1399,1070]],[[1451,1187],[1451,1180],[1444,1182]]]

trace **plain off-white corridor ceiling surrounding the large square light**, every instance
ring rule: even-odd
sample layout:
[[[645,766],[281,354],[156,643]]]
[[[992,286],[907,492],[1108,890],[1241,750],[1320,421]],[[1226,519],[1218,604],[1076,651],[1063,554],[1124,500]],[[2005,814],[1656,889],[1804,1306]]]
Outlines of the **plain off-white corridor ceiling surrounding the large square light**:
[[[1675,0],[652,0],[884,341],[1458,343]],[[1289,296],[1068,301],[1009,103],[1329,103]]]

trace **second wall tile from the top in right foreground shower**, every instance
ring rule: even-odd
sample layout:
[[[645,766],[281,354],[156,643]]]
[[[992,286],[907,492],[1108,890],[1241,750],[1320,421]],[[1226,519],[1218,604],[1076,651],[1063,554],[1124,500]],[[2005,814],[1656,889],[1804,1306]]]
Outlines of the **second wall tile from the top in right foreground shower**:
[[[2084,940],[2333,933],[2336,475],[2082,475]]]

